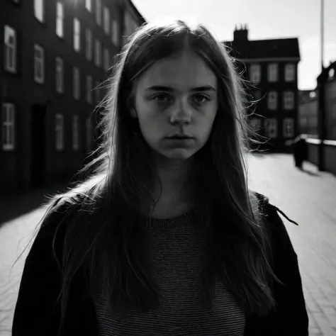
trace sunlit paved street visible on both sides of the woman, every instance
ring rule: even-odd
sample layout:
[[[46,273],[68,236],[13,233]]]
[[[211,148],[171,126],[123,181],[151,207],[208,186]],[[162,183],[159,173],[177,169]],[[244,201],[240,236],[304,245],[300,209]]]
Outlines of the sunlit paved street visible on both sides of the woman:
[[[310,317],[310,335],[336,336],[336,177],[306,163],[301,172],[291,155],[249,158],[250,188],[270,198],[299,226],[283,218],[298,260]],[[0,211],[4,210],[0,204]],[[0,226],[0,336],[11,335],[11,322],[26,252],[42,208]],[[13,268],[11,268],[13,266]],[[271,335],[270,335],[271,336]]]

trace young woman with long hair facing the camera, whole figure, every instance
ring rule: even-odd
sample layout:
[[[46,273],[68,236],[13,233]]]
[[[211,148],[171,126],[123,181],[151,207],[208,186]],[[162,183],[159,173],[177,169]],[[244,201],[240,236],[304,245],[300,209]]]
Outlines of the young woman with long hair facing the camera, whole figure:
[[[13,336],[308,335],[279,209],[247,188],[244,100],[203,26],[130,37],[101,154],[26,259]]]

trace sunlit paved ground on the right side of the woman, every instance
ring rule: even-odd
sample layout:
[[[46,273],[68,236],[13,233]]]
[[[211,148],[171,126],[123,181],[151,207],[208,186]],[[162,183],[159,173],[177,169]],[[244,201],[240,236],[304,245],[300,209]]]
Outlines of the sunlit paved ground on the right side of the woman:
[[[336,336],[336,177],[305,168],[313,174],[294,169],[289,155],[251,157],[250,185],[299,224],[284,219],[298,254],[309,335]]]

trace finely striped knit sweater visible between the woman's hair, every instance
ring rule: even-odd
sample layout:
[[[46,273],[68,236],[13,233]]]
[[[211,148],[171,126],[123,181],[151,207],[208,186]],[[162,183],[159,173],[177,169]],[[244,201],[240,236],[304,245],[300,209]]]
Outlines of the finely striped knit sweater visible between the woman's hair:
[[[161,306],[126,316],[108,313],[103,285],[96,304],[100,336],[242,336],[245,315],[219,282],[213,307],[201,304],[202,258],[206,240],[191,211],[149,223],[150,260]]]

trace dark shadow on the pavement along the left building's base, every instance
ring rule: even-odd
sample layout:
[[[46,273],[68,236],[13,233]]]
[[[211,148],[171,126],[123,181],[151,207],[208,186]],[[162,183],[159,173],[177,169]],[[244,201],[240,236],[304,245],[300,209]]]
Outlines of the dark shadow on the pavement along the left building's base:
[[[48,196],[64,191],[65,187],[65,185],[50,186],[49,188],[31,189],[8,198],[2,196],[0,198],[0,226],[9,220],[40,208],[47,202]]]

